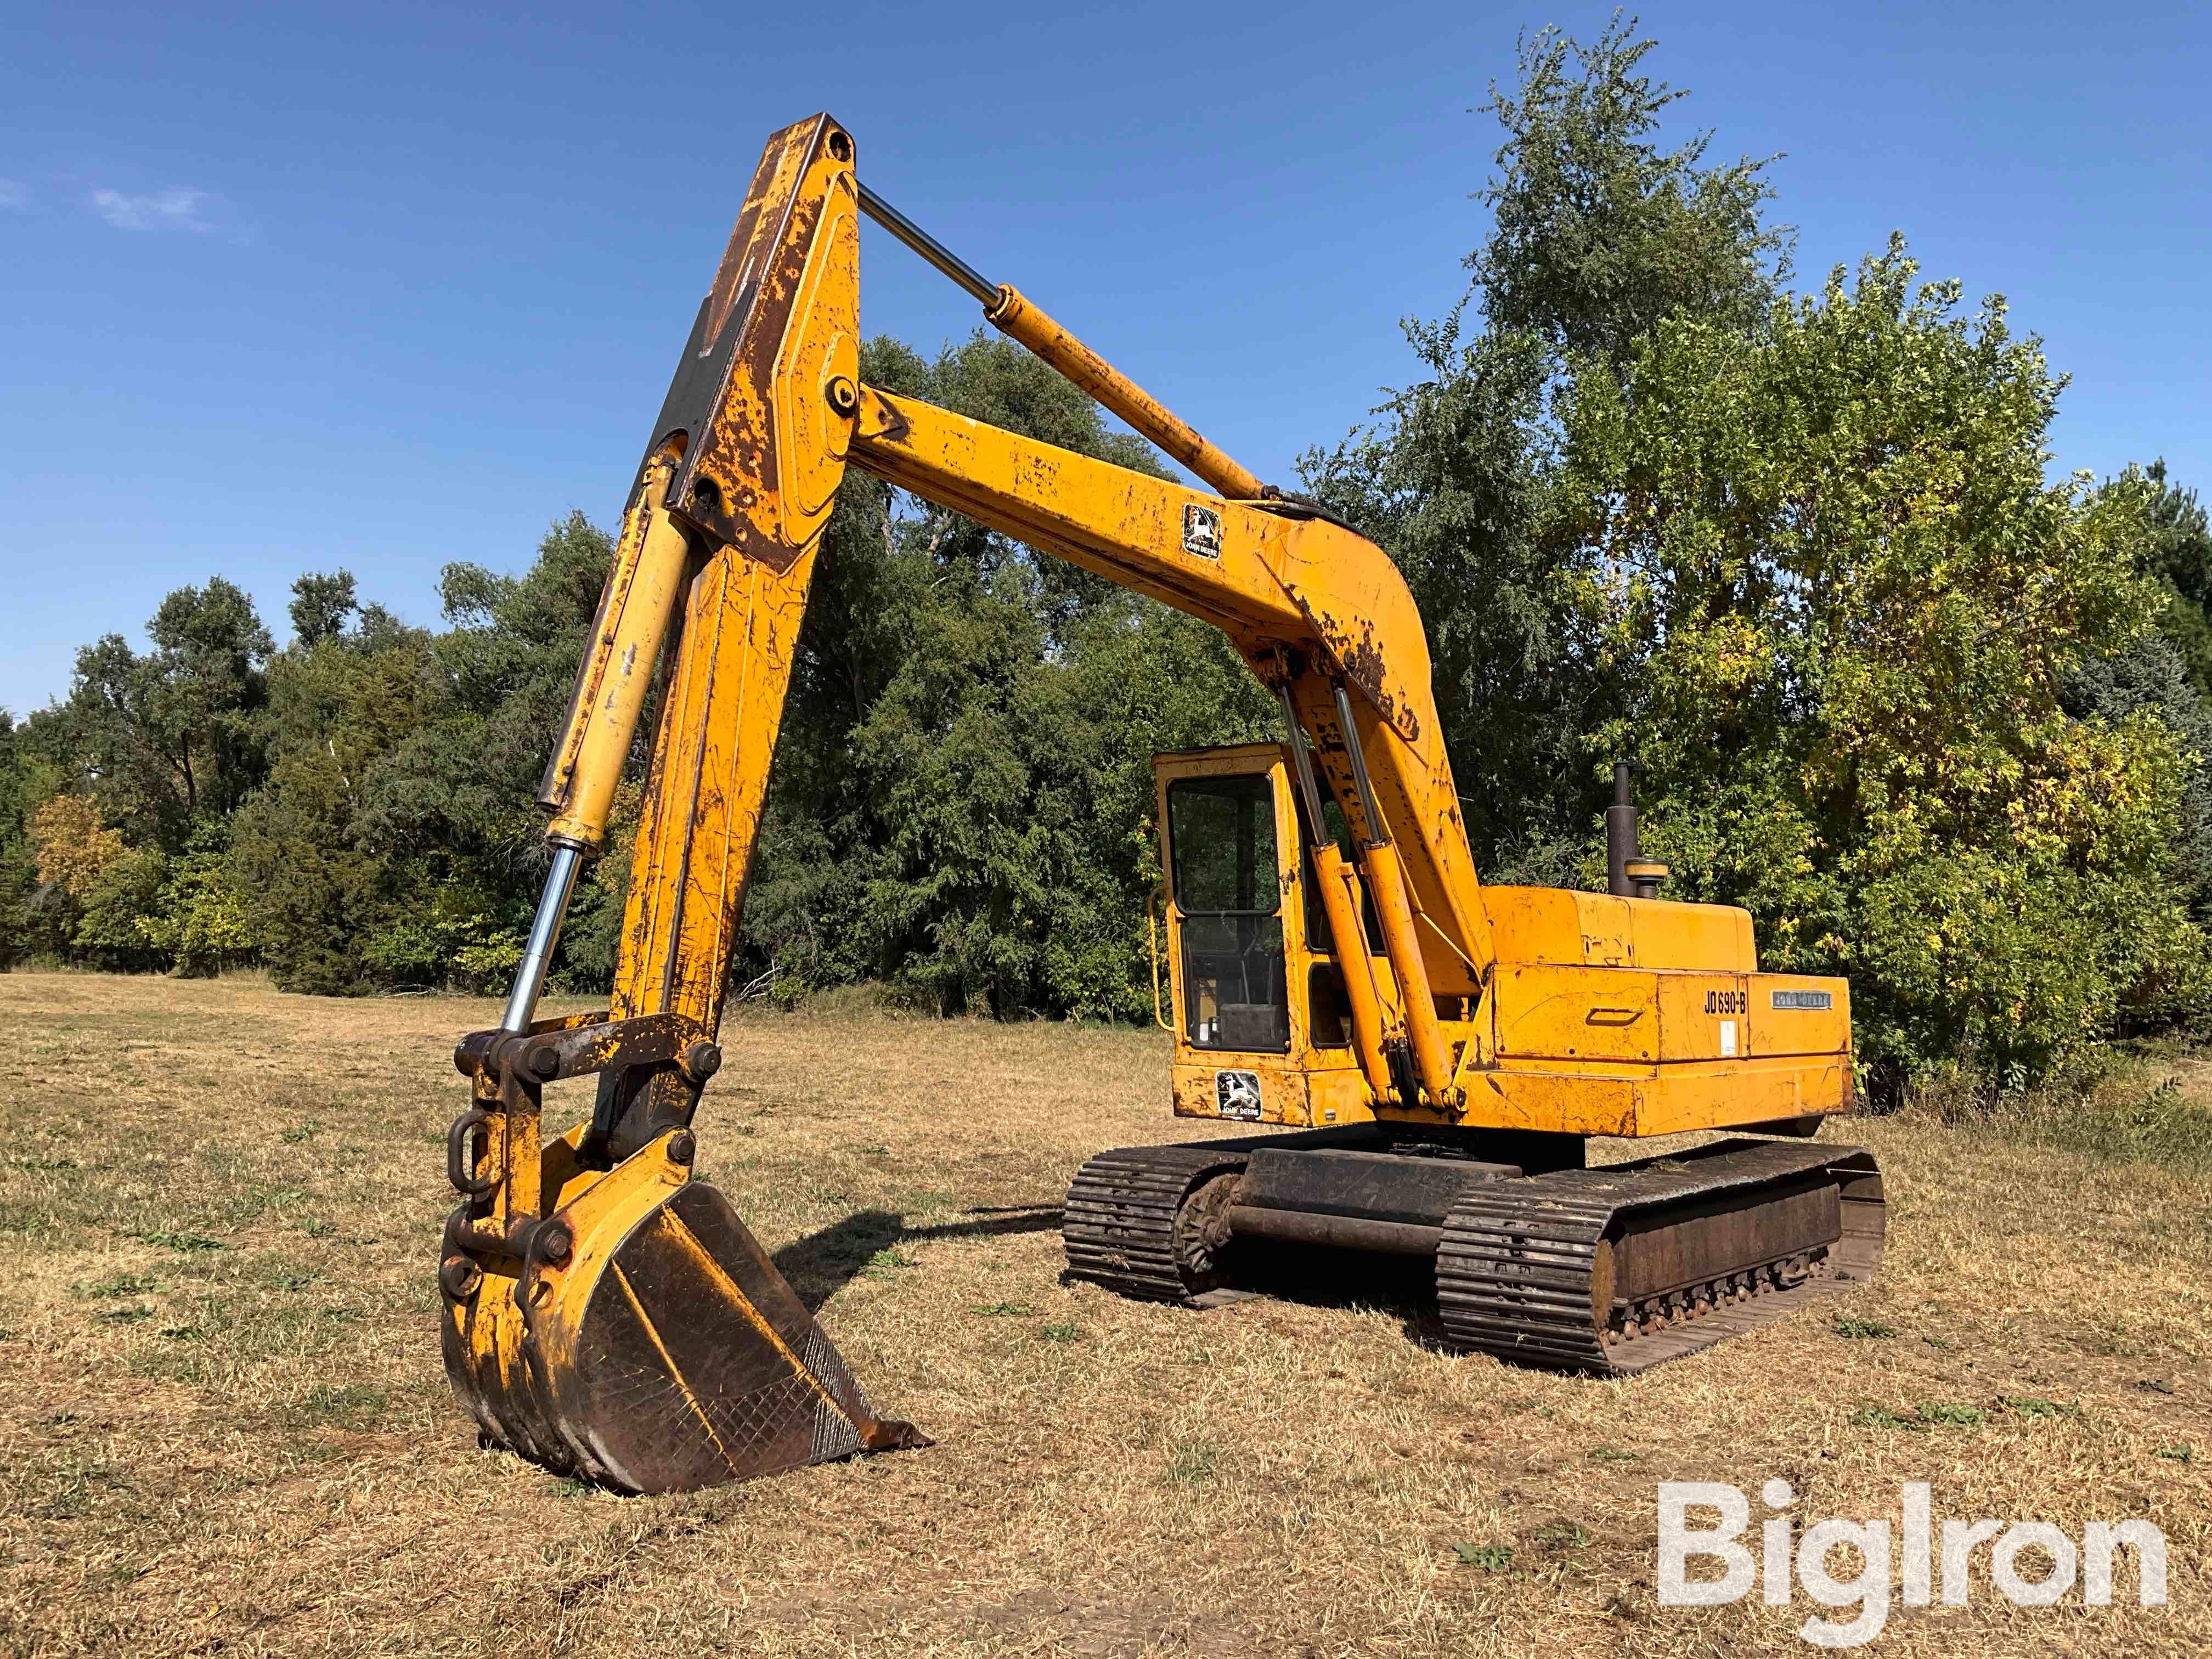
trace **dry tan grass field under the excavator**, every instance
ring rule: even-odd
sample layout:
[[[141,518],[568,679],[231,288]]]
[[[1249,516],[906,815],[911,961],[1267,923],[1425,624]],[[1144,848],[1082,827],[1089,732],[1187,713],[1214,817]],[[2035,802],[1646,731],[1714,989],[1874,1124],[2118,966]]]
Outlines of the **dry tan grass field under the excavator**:
[[[1418,1307],[1062,1285],[1075,1166],[1208,1133],[1159,1033],[743,1013],[701,1168],[938,1444],[626,1500],[478,1451],[438,1365],[447,1055],[495,1018],[0,975],[0,1650],[1809,1652],[1803,1593],[1655,1597],[1655,1484],[1756,1524],[1770,1475],[1801,1517],[1929,1480],[1938,1517],[2170,1540],[2166,1610],[2132,1571],[2020,1610],[1984,1551],[1874,1652],[2212,1646],[2203,1161],[1832,1126],[1889,1172],[1882,1279],[1586,1383],[1438,1352]]]

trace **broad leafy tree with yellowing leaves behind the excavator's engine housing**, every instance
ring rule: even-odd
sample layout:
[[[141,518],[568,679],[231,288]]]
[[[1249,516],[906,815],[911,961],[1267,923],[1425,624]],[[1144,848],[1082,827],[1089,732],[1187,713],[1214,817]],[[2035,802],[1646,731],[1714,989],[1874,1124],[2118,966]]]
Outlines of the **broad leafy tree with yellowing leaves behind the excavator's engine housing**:
[[[2152,588],[2148,491],[2044,480],[2057,394],[2002,301],[1960,314],[1891,241],[1756,338],[1661,323],[1566,420],[1621,684],[1593,748],[1641,757],[1686,896],[1747,905],[1772,967],[1854,978],[1889,1082],[2028,1079],[2203,998],[2174,730],[2064,706]]]

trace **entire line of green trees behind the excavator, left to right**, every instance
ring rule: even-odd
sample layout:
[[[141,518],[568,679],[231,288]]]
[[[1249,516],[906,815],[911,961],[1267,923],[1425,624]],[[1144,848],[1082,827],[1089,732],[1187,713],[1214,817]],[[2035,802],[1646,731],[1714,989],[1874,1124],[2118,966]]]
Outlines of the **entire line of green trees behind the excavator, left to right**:
[[[1615,759],[1672,894],[1845,973],[1878,1088],[2015,1086],[2212,1015],[2212,531],[2157,462],[2053,476],[2064,376],[1893,237],[1794,285],[1770,164],[1659,142],[1650,40],[1522,42],[1489,234],[1409,385],[1301,460],[1405,571],[1478,867],[1601,885]],[[869,343],[869,380],[1128,467],[1011,343]],[[212,577],[146,650],[0,712],[0,958],[285,989],[502,984],[531,807],[611,557],[582,513],[442,626],[303,575],[281,648]],[[1203,624],[845,480],[745,905],[779,995],[1139,1020],[1150,754],[1274,737]],[[641,761],[641,757],[639,757]],[[580,889],[604,987],[624,825]]]

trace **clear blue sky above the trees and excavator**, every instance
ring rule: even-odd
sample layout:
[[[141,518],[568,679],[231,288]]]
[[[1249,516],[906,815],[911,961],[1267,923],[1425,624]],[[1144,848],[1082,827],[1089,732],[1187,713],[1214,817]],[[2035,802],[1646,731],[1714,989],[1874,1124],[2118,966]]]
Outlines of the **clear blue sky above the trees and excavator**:
[[[823,22],[821,18],[830,18]],[[619,511],[761,139],[860,173],[1263,476],[1462,292],[1522,27],[1610,7],[0,9],[0,706],[212,573],[283,637],[349,566]],[[2057,465],[2212,484],[2199,7],[1641,9],[1681,128],[1767,155],[1801,281],[1896,228],[2073,374]],[[863,323],[973,305],[869,230]],[[2212,491],[2208,491],[2212,493]]]

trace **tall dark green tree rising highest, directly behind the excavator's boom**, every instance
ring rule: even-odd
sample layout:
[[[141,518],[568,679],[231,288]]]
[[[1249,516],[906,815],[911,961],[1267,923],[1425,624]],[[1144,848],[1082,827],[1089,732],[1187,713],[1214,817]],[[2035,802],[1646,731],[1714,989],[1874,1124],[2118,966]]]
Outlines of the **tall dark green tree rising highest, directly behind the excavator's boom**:
[[[1790,274],[1790,230],[1763,221],[1767,164],[1708,164],[1710,133],[1659,142],[1686,93],[1646,73],[1652,49],[1619,15],[1590,44],[1522,38],[1517,86],[1493,82],[1482,106],[1504,144],[1467,299],[1405,325],[1422,378],[1376,429],[1301,462],[1420,604],[1469,843],[1500,880],[1575,878],[1604,801],[1588,732],[1619,697],[1590,630],[1590,549],[1553,511],[1555,405],[1666,316],[1756,334]]]

